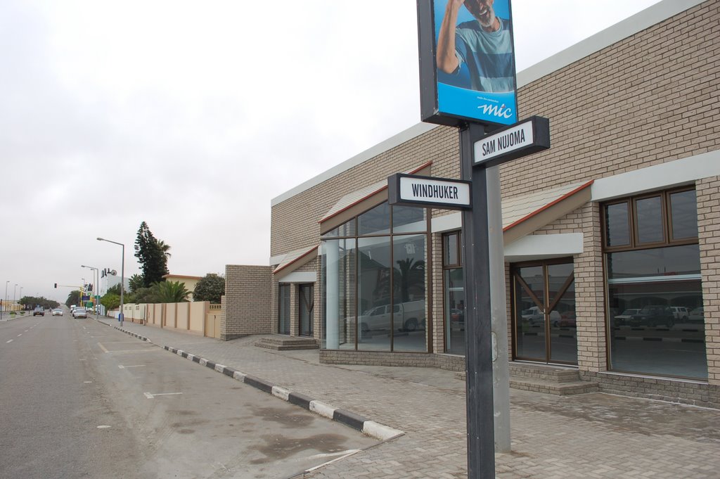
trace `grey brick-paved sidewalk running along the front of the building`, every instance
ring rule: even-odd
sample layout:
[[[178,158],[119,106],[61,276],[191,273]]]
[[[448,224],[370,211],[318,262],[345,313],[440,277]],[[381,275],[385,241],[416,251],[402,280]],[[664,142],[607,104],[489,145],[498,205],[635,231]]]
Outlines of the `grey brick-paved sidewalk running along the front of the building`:
[[[405,431],[307,478],[467,478],[464,382],[453,372],[320,364],[317,351],[253,346],[261,336],[218,341],[127,321],[124,329]],[[720,478],[720,411],[510,393],[513,451],[495,455],[498,478]]]

